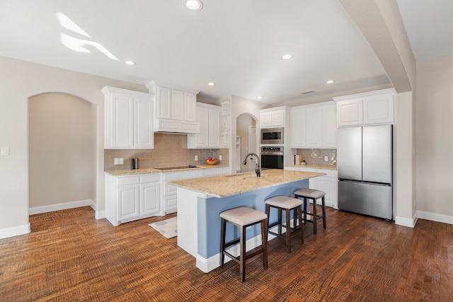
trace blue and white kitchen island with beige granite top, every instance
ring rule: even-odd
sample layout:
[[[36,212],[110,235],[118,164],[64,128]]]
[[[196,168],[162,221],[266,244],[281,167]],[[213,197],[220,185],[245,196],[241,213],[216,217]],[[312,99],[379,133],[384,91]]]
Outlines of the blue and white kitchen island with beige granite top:
[[[276,195],[294,196],[293,192],[309,187],[309,179],[325,175],[292,170],[263,170],[257,178],[254,172],[212,176],[171,182],[177,189],[178,246],[196,258],[203,272],[219,267],[220,217],[234,207],[251,207],[265,211],[265,199]],[[277,219],[271,211],[271,221]],[[227,225],[226,240],[239,236]],[[260,245],[260,229],[247,229],[247,249]],[[236,247],[234,247],[236,248]],[[239,250],[233,252],[239,255]]]

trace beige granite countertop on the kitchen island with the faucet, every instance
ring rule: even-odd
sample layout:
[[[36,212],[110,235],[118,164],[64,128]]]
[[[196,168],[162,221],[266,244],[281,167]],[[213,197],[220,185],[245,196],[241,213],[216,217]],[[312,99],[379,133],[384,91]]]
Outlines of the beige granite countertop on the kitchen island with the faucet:
[[[326,173],[271,169],[262,170],[260,178],[256,177],[255,172],[245,172],[207,178],[176,180],[169,183],[177,187],[222,198],[322,175],[326,175]]]

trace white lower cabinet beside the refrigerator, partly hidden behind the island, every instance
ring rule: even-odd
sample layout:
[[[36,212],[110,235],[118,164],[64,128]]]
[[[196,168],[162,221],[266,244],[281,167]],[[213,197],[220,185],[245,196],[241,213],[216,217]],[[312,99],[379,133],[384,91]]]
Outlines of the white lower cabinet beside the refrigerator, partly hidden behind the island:
[[[337,170],[331,169],[313,169],[302,167],[285,167],[285,170],[295,170],[304,172],[326,173],[326,175],[317,178],[310,178],[310,189],[316,189],[326,192],[326,207],[333,207],[338,209],[338,175]],[[321,199],[316,201],[321,204]]]

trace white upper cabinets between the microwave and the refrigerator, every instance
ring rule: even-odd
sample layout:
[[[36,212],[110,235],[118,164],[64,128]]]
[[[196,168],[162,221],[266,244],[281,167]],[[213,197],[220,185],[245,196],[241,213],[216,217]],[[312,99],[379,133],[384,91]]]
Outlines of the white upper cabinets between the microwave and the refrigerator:
[[[293,107],[289,130],[293,149],[336,148],[336,105],[324,102]]]

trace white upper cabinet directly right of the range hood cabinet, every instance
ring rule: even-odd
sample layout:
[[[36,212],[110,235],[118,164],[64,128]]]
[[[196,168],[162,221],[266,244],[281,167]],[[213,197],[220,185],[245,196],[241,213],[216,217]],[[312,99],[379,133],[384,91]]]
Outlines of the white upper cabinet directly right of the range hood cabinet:
[[[220,112],[222,107],[197,103],[197,118],[200,133],[188,134],[188,149],[220,148]]]

